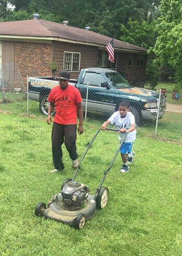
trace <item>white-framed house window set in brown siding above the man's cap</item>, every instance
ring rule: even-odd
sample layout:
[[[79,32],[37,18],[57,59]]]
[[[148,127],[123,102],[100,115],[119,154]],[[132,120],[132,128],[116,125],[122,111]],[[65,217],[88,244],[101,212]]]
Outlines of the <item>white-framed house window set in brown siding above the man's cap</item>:
[[[79,71],[80,69],[80,53],[64,52],[64,70]]]

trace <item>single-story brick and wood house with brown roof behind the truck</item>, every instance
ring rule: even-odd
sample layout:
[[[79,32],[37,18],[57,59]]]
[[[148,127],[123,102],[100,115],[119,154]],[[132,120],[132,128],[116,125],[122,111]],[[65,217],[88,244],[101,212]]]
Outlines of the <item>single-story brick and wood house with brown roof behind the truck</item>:
[[[76,79],[82,68],[99,66],[127,74],[131,82],[145,80],[146,49],[114,39],[112,64],[106,51],[111,38],[65,24],[35,18],[0,22],[0,71],[15,63],[25,83],[27,75],[57,76],[61,69]],[[16,71],[7,76],[16,79]]]

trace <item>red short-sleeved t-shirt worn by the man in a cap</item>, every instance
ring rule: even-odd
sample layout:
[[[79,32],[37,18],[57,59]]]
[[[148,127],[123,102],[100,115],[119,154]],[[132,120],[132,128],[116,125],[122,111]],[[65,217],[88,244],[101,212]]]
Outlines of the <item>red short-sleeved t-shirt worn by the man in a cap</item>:
[[[66,89],[56,86],[51,89],[48,96],[49,102],[54,102],[56,114],[54,122],[59,124],[76,124],[77,123],[77,103],[82,102],[80,91],[68,84]]]

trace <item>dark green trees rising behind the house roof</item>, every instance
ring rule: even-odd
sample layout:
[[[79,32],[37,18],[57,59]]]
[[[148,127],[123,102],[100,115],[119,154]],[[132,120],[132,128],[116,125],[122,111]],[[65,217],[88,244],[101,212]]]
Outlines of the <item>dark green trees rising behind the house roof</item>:
[[[33,13],[38,13],[42,19],[56,22],[68,20],[71,26],[90,26],[95,32],[118,39],[121,37],[121,25],[126,26],[129,18],[138,22],[151,21],[159,5],[158,1],[153,3],[151,0],[10,0],[10,3],[16,6],[14,11],[26,10],[30,17]],[[8,16],[7,19],[11,18],[14,20],[13,16]]]

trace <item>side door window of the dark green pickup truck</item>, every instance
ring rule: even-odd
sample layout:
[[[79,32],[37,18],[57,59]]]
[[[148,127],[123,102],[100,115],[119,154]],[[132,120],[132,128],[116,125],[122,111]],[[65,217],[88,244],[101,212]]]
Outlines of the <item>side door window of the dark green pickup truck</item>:
[[[99,86],[101,87],[101,83],[106,82],[105,78],[101,74],[93,73],[93,72],[86,72],[83,84],[89,86]]]

